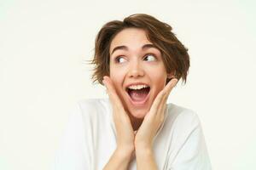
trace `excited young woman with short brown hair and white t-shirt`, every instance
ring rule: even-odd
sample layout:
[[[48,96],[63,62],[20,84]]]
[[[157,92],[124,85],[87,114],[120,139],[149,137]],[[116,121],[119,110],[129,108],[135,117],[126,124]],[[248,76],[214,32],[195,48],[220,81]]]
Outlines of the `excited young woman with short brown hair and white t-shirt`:
[[[166,104],[189,71],[189,54],[171,26],[148,14],[108,22],[92,64],[109,99],[78,102],[55,169],[211,169],[198,116]]]

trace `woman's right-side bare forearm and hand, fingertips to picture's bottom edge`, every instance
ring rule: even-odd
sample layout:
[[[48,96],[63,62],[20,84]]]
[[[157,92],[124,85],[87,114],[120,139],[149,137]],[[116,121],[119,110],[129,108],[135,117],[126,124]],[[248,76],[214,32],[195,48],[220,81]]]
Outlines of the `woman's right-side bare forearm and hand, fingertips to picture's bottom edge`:
[[[138,170],[157,170],[154,160],[153,143],[154,136],[165,119],[166,100],[176,85],[177,79],[172,79],[166,87],[157,94],[150,111],[144,117],[143,124],[139,127],[135,136],[135,149]]]

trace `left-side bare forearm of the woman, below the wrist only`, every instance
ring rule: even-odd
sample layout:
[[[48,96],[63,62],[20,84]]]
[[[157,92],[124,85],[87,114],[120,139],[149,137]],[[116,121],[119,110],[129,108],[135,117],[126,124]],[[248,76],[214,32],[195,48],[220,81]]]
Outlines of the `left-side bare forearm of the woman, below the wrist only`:
[[[103,170],[126,170],[131,161],[132,151],[116,149]]]

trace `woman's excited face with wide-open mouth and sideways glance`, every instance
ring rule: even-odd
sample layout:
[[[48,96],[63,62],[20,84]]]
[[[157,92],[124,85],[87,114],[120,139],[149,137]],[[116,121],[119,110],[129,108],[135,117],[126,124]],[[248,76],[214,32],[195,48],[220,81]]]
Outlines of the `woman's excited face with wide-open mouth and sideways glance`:
[[[110,78],[125,111],[143,118],[166,85],[160,50],[138,28],[120,31],[110,44]]]

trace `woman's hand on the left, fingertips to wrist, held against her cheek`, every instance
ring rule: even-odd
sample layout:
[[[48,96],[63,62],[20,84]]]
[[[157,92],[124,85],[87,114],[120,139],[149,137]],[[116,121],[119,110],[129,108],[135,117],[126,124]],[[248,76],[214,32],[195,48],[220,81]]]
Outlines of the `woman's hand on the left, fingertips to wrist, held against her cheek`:
[[[115,91],[110,77],[103,77],[102,82],[107,88],[108,96],[113,107],[113,122],[117,133],[117,150],[132,154],[135,150],[135,134],[131,126],[130,118]]]

